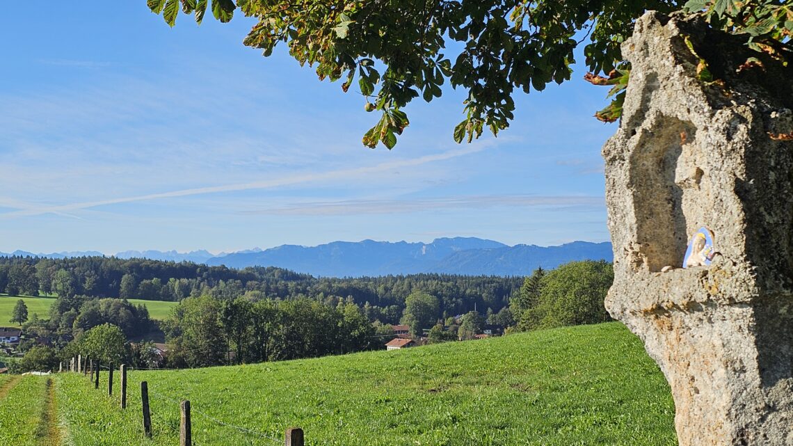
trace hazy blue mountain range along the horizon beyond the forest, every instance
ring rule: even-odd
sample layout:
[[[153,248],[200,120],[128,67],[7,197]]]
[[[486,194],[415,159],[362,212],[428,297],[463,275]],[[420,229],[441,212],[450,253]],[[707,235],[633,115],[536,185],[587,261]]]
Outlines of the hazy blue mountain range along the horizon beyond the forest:
[[[101,252],[53,252],[33,254],[14,251],[0,256],[40,256],[53,259],[79,256],[103,256]],[[208,265],[233,268],[251,266],[282,267],[289,270],[326,277],[358,277],[363,275],[399,275],[423,272],[459,275],[529,275],[537,267],[552,269],[573,260],[612,260],[611,243],[574,241],[560,246],[542,247],[534,244],[508,246],[476,237],[439,238],[431,243],[408,243],[363,240],[334,241],[306,247],[284,244],[269,249],[212,253],[200,250],[125,251],[121,259],[146,258],[181,262],[187,260]]]

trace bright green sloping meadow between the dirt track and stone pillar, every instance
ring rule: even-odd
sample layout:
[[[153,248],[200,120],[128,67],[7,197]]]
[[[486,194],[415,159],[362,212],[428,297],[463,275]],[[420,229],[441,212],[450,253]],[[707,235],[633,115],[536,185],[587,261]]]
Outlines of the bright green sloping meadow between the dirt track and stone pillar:
[[[668,385],[619,323],[282,363],[132,371],[124,412],[117,395],[107,397],[106,378],[93,390],[81,375],[58,376],[61,415],[76,445],[177,444],[184,399],[193,406],[196,444],[274,444],[289,426],[303,428],[314,446],[676,444]],[[140,433],[144,380],[151,441]],[[117,374],[115,382],[117,389]]]

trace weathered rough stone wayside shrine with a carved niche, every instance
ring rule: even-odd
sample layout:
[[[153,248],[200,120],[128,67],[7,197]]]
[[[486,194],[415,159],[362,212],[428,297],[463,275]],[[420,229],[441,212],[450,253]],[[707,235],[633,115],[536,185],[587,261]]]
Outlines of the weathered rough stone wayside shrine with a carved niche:
[[[793,73],[764,56],[738,70],[757,53],[699,18],[653,12],[623,56],[623,118],[603,147],[607,309],[666,375],[681,445],[791,446],[793,142],[769,133],[793,131]],[[722,82],[698,79],[700,57]],[[720,255],[682,269],[701,226]]]

